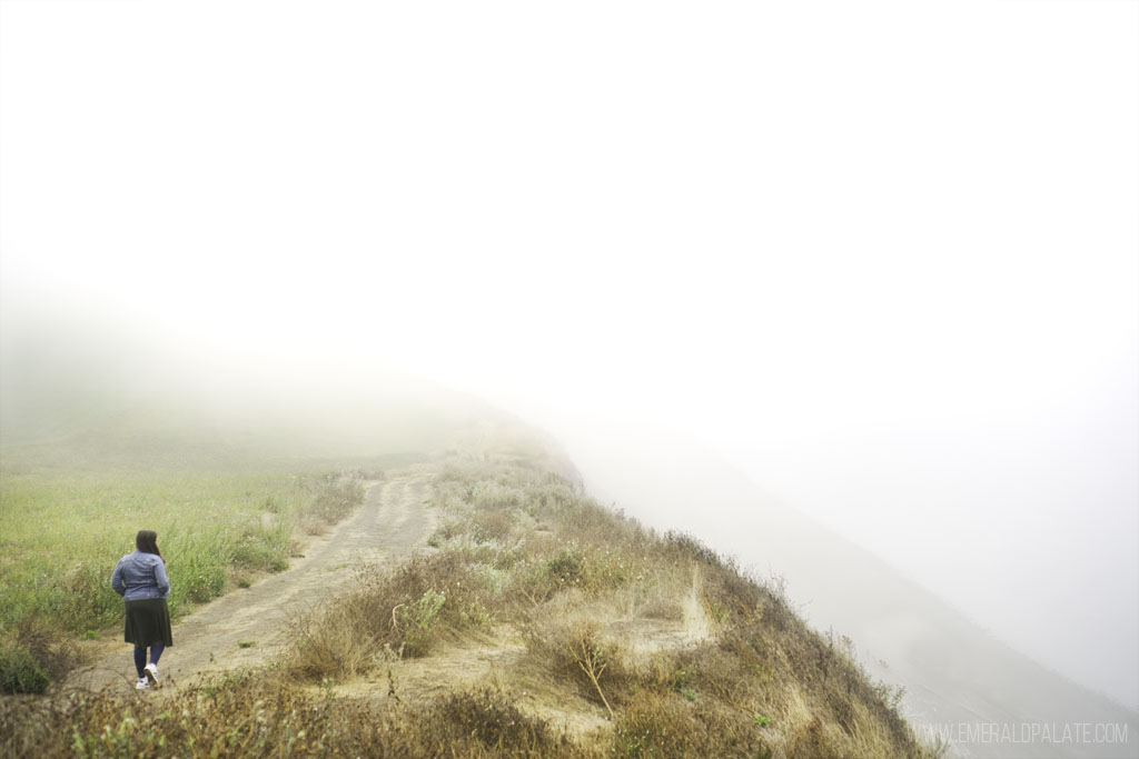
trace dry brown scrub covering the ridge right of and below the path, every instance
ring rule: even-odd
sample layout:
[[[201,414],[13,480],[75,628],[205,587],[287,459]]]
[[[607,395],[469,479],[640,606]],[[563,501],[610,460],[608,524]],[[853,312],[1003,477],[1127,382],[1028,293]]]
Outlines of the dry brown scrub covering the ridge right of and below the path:
[[[0,702],[13,756],[934,757],[834,636],[533,447],[440,462],[429,547],[295,620],[273,666]]]

